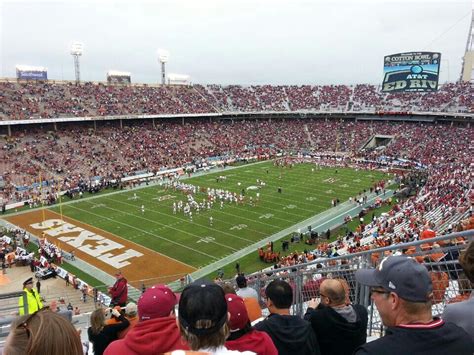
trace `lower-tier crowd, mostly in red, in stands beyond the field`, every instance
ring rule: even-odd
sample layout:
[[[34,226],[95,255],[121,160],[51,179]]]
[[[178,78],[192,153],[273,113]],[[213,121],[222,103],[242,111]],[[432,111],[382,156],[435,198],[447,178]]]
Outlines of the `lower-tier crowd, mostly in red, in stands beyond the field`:
[[[21,201],[34,190],[17,186],[55,180],[61,189],[100,176],[113,180],[134,172],[157,172],[208,157],[268,158],[281,152],[348,152],[355,158],[380,156],[417,161],[430,168],[426,189],[435,191],[440,203],[462,198],[470,163],[473,128],[448,124],[367,122],[353,120],[259,120],[234,122],[193,121],[153,125],[130,121],[98,125],[66,124],[49,132],[38,127],[16,131],[0,150],[3,198]],[[384,150],[360,148],[375,134],[391,135]],[[459,183],[446,185],[453,178]],[[54,184],[53,184],[54,185]],[[59,186],[52,186],[57,190]],[[457,201],[457,200],[455,200]],[[448,205],[448,204],[446,204]]]

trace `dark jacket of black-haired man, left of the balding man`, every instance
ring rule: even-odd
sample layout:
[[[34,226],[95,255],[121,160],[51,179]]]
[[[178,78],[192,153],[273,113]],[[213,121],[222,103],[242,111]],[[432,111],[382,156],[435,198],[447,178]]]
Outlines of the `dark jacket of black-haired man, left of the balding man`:
[[[255,329],[266,332],[279,355],[319,355],[319,345],[311,324],[300,317],[270,314]]]

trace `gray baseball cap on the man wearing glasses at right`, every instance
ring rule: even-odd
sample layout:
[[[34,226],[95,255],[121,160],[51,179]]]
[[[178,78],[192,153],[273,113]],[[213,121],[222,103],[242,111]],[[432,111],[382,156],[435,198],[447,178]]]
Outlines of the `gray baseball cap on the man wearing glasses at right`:
[[[376,269],[357,270],[355,277],[362,285],[381,287],[410,302],[427,302],[433,293],[426,267],[406,256],[389,256]]]

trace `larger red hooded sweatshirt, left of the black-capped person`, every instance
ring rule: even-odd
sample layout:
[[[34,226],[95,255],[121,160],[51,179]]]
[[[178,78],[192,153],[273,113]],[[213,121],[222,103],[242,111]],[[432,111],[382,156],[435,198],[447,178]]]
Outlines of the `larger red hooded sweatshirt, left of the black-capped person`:
[[[138,322],[124,339],[112,342],[104,355],[161,354],[188,349],[188,345],[181,340],[176,318],[169,316]]]

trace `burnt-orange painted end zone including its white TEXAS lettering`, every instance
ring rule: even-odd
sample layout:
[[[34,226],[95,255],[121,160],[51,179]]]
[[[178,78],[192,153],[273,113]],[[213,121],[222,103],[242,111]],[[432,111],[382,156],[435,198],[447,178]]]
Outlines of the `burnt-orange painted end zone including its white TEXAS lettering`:
[[[135,287],[141,287],[140,280],[157,279],[166,283],[196,270],[106,230],[67,216],[60,217],[51,210],[33,210],[4,219],[33,235],[52,239],[66,252],[75,251],[77,258],[109,275],[121,269]]]

